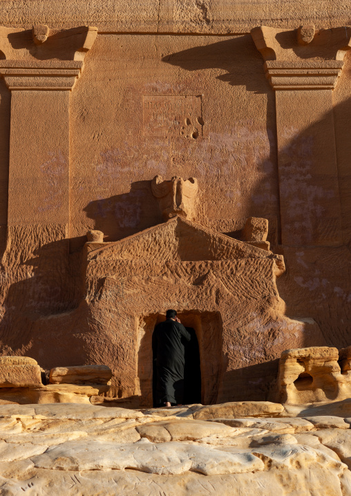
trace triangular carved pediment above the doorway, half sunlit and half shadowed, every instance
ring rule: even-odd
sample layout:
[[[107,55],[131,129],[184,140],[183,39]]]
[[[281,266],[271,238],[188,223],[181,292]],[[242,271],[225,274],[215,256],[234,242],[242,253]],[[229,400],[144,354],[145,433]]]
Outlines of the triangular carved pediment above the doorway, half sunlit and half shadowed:
[[[129,238],[108,243],[88,254],[89,259],[121,260],[232,260],[272,258],[272,253],[234,240],[207,227],[175,217]]]

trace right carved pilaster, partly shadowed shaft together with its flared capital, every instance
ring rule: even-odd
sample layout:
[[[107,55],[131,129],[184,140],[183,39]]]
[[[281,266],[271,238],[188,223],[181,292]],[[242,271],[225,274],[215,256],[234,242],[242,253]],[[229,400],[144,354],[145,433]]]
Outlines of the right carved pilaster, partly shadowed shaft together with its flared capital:
[[[332,91],[351,28],[252,30],[276,93],[281,237],[285,245],[341,245]]]

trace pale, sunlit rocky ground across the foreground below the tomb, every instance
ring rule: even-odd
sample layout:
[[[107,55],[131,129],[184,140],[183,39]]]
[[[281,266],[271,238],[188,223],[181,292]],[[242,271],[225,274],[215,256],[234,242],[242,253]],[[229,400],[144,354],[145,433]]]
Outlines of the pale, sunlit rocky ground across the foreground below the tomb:
[[[349,496],[350,424],[350,400],[1,405],[0,494]]]

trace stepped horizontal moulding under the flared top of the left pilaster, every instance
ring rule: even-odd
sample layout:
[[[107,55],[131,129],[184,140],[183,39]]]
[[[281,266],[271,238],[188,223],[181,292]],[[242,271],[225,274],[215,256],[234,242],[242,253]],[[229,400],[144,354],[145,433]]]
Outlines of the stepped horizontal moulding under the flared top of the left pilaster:
[[[0,75],[10,90],[72,90],[82,61],[0,60]]]

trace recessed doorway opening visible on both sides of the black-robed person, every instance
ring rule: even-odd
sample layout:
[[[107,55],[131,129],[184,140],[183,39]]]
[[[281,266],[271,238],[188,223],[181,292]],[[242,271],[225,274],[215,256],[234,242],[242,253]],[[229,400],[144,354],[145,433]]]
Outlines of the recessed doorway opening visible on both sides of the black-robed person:
[[[184,342],[184,399],[183,404],[216,403],[222,372],[222,319],[218,312],[198,310],[178,312],[181,323],[191,334]],[[151,314],[140,318],[138,328],[137,381],[140,406],[155,405],[156,374],[153,370],[152,334],[164,315]]]

